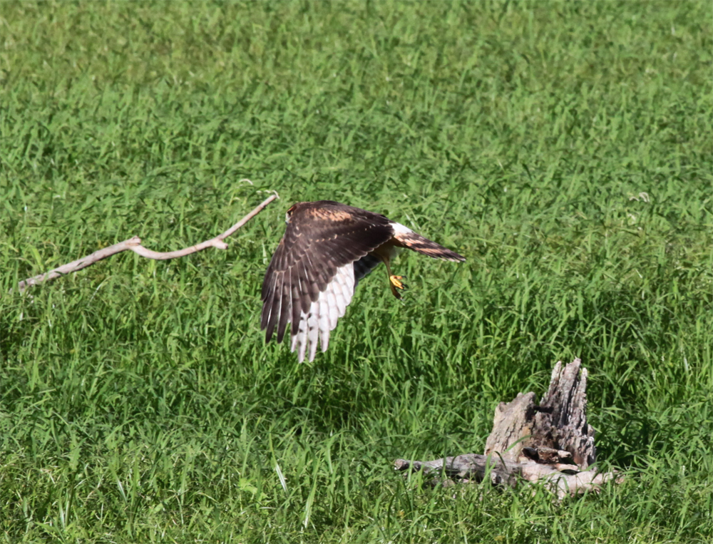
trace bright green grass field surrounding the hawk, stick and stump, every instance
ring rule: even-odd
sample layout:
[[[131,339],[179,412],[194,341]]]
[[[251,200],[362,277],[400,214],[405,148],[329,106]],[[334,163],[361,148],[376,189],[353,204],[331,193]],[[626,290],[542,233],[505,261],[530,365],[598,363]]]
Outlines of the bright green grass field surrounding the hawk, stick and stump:
[[[707,1],[0,5],[0,539],[709,543],[713,9]],[[254,185],[240,182],[249,178]],[[124,253],[19,280],[132,235]],[[382,212],[403,254],[326,354],[265,346],[298,200]],[[429,489],[493,409],[590,370],[626,480]]]

